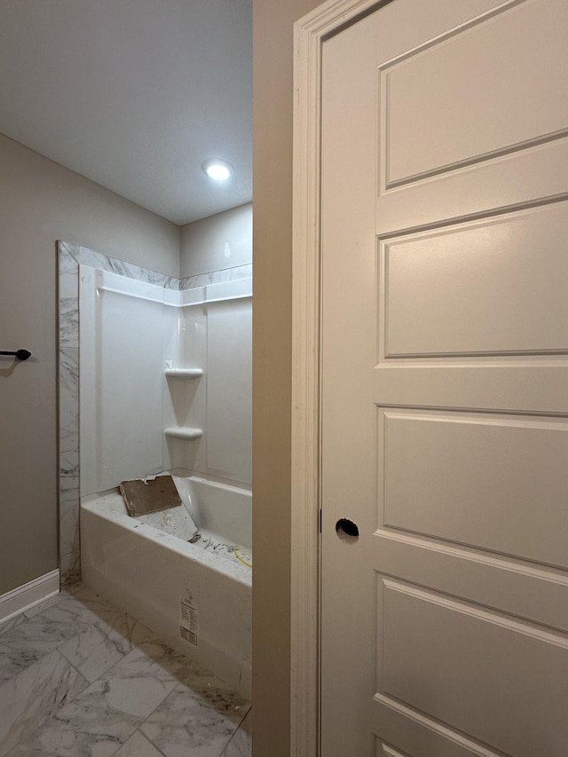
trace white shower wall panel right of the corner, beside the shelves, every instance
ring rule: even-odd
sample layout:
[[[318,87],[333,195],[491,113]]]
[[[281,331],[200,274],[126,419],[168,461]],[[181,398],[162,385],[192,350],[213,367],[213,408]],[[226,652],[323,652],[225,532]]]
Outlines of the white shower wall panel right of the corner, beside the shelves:
[[[179,293],[176,367],[203,370],[193,381],[168,380],[174,425],[203,431],[168,439],[171,467],[180,473],[251,484],[251,287],[251,279],[233,278]]]

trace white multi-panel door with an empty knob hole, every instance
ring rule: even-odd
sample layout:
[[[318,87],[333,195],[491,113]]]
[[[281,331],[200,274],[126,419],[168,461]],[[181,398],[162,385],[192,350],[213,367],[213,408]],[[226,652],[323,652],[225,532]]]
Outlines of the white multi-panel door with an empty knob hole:
[[[565,757],[568,3],[322,70],[322,757]]]

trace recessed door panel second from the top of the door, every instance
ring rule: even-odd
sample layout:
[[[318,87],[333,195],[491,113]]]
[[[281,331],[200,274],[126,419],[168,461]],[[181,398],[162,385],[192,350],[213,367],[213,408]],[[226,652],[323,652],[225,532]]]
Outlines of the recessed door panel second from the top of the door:
[[[568,353],[568,205],[384,241],[382,359]]]

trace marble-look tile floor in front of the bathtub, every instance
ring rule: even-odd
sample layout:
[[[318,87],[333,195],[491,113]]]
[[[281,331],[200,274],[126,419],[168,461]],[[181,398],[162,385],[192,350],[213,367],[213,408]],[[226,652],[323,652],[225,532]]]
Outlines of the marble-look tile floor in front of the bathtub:
[[[250,757],[250,703],[88,587],[0,625],[0,757]]]

